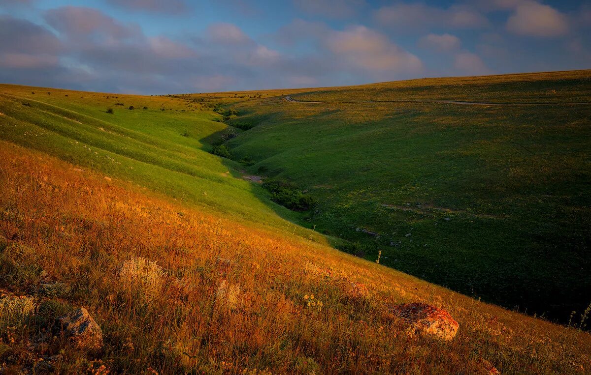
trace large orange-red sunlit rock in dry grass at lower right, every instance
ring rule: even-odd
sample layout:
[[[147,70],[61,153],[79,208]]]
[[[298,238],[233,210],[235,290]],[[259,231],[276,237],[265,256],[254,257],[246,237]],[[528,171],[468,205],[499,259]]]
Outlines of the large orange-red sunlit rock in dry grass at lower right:
[[[433,305],[420,302],[396,305],[391,308],[394,315],[414,325],[415,329],[443,340],[452,340],[457,333],[459,324],[449,312]]]

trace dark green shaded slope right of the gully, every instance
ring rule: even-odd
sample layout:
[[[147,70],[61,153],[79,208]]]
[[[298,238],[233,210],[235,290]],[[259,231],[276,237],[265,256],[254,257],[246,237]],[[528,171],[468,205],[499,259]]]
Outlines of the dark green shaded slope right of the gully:
[[[245,114],[233,121],[259,124],[228,142],[235,158],[308,189],[320,202],[310,221],[318,230],[373,246],[368,259],[382,249],[383,264],[401,271],[567,320],[591,298],[589,104],[343,102],[589,102],[590,77],[434,78],[292,95],[323,104],[287,103],[289,90],[218,97]]]

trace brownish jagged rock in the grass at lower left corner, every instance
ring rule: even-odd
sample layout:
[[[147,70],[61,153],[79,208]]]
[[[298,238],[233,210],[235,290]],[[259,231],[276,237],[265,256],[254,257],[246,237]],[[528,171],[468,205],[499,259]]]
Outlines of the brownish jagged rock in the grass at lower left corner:
[[[103,346],[103,332],[85,308],[60,317],[64,333],[72,337],[76,345],[86,349],[99,350]]]

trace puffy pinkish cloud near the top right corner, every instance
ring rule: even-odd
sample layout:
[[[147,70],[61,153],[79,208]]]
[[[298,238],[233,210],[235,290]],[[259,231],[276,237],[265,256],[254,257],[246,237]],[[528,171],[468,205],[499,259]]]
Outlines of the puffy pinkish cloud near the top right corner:
[[[531,37],[560,37],[569,32],[566,15],[535,1],[519,4],[506,25],[514,34]]]

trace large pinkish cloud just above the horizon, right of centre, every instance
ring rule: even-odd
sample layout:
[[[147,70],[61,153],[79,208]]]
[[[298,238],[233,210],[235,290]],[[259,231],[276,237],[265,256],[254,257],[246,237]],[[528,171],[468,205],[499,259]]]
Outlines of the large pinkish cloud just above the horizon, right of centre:
[[[368,71],[416,73],[423,69],[418,57],[391,43],[385,35],[364,26],[333,31],[327,37],[326,45],[345,63]]]

